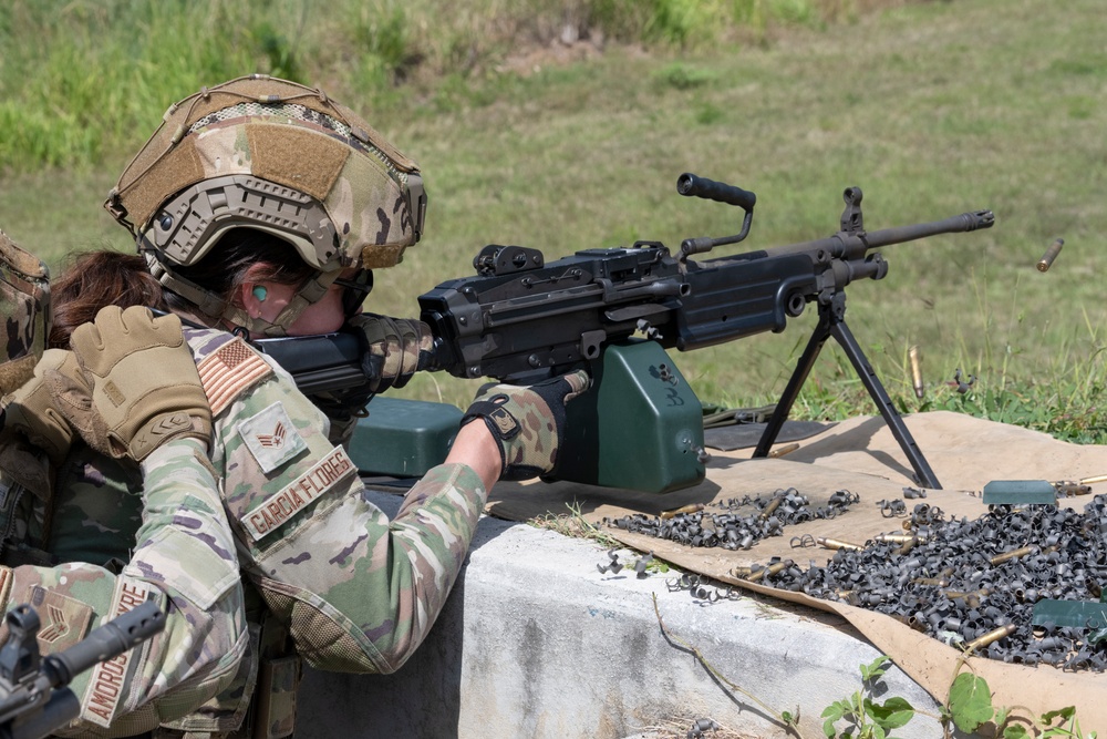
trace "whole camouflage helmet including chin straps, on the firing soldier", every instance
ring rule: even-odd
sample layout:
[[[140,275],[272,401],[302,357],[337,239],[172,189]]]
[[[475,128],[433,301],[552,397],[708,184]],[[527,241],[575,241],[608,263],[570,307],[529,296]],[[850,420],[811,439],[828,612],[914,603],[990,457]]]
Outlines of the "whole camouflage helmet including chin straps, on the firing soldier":
[[[350,267],[397,264],[418,242],[418,165],[327,93],[255,74],[166,111],[104,207],[163,285],[211,317],[281,336]],[[182,277],[231,228],[290,243],[318,270],[272,324]]]

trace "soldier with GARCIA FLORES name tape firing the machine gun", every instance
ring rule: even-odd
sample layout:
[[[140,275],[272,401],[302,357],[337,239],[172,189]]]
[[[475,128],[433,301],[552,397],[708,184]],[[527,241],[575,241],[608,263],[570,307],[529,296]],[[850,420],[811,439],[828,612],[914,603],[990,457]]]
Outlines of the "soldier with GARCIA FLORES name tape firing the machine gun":
[[[552,469],[565,403],[589,379],[487,389],[446,462],[390,521],[334,441],[371,392],[403,384],[426,359],[425,325],[356,312],[370,270],[397,264],[422,232],[418,167],[321,91],[265,76],[205,89],[164,121],[106,207],[164,290],[151,300],[211,327],[186,337],[210,402],[211,463],[258,596],[248,614],[265,622],[259,678],[238,695],[255,695],[255,736],[282,737],[299,659],[351,673],[407,659],[457,577],[487,490]],[[293,263],[307,273],[287,274]],[[79,292],[90,295],[72,299]],[[381,376],[369,393],[309,399],[248,342],[333,330],[362,338]],[[56,519],[89,514],[72,499]],[[294,654],[281,650],[286,635]]]

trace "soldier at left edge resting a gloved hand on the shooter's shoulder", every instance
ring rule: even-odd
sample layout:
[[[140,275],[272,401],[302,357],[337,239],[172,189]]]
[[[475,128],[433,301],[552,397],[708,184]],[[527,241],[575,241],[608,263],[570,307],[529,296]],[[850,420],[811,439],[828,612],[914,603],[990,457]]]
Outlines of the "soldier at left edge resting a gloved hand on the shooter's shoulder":
[[[0,302],[14,319],[0,365],[0,605],[29,603],[39,612],[43,653],[72,646],[142,603],[158,605],[166,614],[161,634],[71,684],[82,718],[63,735],[128,736],[204,708],[249,664],[238,561],[207,462],[210,412],[179,320],[106,308],[96,325],[74,332],[74,352],[43,352],[48,296],[45,267],[0,234]],[[148,361],[162,372],[142,371]],[[94,398],[97,368],[114,402]],[[75,428],[91,438],[102,429],[112,439],[105,453],[142,463],[141,526],[132,527],[134,555],[122,568],[39,548],[43,513],[66,476],[71,448],[82,445]]]

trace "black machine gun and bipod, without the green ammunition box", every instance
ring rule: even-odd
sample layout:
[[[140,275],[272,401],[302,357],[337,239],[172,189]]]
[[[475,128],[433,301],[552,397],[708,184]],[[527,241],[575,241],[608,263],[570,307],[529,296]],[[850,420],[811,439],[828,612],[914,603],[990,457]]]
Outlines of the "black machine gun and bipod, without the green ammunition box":
[[[756,195],[693,174],[677,179],[681,195],[745,212],[736,236],[689,238],[673,256],[659,242],[598,248],[546,263],[541,252],[488,245],[474,259],[477,274],[448,280],[418,298],[435,336],[427,369],[455,377],[532,382],[597,361],[606,346],[635,335],[680,351],[783,331],[787,319],[817,304],[819,320],[754,451],[766,456],[827,339],[841,345],[918,481],[941,485],[908,432],[861,348],[846,326],[845,287],[888,274],[871,249],[937,234],[989,228],[991,211],[944,220],[866,232],[861,191],[844,193],[838,233],[828,238],[695,261],[689,257],[735,244],[749,233]],[[297,343],[300,342],[300,343]],[[333,333],[257,342],[289,370],[309,396],[364,387],[371,367],[355,336]]]

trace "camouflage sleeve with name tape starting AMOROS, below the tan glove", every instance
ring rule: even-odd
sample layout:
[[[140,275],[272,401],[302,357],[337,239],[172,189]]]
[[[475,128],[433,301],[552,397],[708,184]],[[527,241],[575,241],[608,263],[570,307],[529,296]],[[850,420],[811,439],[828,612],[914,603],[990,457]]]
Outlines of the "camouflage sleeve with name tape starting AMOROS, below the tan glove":
[[[235,678],[248,649],[234,538],[200,444],[165,444],[143,472],[143,524],[120,575],[85,563],[9,571],[8,602],[39,610],[44,651],[146,601],[166,613],[164,632],[73,680],[82,712],[66,733],[125,736],[187,714]]]

